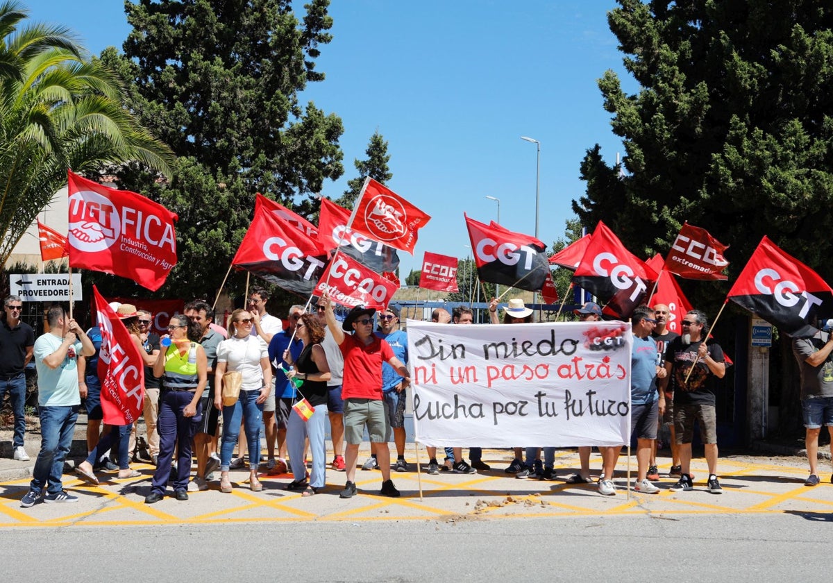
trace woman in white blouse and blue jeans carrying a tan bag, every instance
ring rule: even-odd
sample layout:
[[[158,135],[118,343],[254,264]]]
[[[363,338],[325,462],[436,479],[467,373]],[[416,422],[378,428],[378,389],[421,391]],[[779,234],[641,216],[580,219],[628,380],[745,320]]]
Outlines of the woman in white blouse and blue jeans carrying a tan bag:
[[[217,370],[214,372],[214,406],[222,407],[222,446],[220,446],[220,491],[231,492],[232,482],[228,471],[232,464],[232,451],[240,435],[240,419],[246,430],[249,456],[257,460],[260,454],[260,426],[263,419],[263,402],[272,387],[272,367],[266,342],[260,336],[252,336],[252,314],[246,310],[232,312],[228,327],[228,340],[217,347]],[[240,396],[234,405],[222,405],[222,376],[226,372],[240,372],[242,385]],[[263,489],[257,479],[257,461],[249,464],[249,488],[254,492]]]

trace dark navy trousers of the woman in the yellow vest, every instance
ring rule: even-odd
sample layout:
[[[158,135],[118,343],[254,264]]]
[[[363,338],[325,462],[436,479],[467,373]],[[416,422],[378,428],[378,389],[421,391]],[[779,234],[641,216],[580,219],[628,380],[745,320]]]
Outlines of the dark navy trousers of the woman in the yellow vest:
[[[177,456],[177,480],[173,482],[174,491],[188,489],[188,476],[191,475],[191,441],[202,421],[202,410],[197,403],[197,415],[186,417],[182,411],[194,398],[188,391],[166,391],[159,402],[159,459],[157,469],[153,472],[152,491],[165,495],[167,479],[171,477],[173,451],[179,444]]]

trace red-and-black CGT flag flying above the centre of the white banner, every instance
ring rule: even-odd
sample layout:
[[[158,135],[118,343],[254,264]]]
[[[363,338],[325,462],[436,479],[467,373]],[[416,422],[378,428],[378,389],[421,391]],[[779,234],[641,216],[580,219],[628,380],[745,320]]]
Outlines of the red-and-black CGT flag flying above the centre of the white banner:
[[[482,282],[526,291],[541,290],[550,272],[544,243],[536,237],[463,216],[474,250],[477,276]]]

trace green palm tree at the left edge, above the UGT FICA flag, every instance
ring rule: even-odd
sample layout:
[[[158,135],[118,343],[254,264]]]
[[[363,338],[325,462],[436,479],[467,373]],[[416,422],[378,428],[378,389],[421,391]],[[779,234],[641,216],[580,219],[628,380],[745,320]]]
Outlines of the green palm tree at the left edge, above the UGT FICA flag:
[[[67,183],[67,168],[138,162],[169,176],[174,159],[124,107],[116,75],[67,28],[26,18],[20,3],[0,4],[0,265]]]

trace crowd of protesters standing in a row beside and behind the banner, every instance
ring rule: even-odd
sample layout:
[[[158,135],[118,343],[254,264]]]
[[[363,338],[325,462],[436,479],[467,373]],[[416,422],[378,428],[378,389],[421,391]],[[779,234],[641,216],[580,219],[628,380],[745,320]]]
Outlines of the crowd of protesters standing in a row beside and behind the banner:
[[[77,466],[77,476],[92,484],[98,483],[98,471],[117,471],[120,479],[136,478],[141,474],[131,469],[130,462],[146,461],[156,466],[152,489],[145,499],[148,504],[161,501],[169,489],[173,497],[185,501],[189,491],[206,490],[212,481],[218,481],[220,491],[232,491],[230,472],[245,467],[246,446],[248,486],[252,491],[262,490],[258,471],[264,424],[264,471],[271,475],[290,471],[293,479],[285,485],[287,490],[314,496],[325,486],[329,467],[346,472],[340,496],[354,496],[358,448],[367,431],[372,456],[362,469],[381,471],[382,496],[400,496],[391,471],[411,471],[404,449],[405,405],[411,379],[407,333],[400,329],[397,307],[388,306],[377,313],[360,306],[343,321],[337,321],[332,301],[325,294],[308,311],[304,306],[292,306],[288,326],[284,327],[279,318],[267,313],[267,300],[267,292],[255,288],[249,294],[247,309],[232,313],[228,331],[217,326],[211,306],[193,301],[183,315],[172,316],[168,334],[162,338],[149,331],[150,312],[130,304],[113,305],[140,348],[146,367],[143,414],[147,435],[137,438],[133,426],[101,427],[101,382],[95,366],[101,334],[97,326],[82,331],[66,311],[52,307],[47,312],[49,331],[34,340],[31,328],[19,319],[20,298],[8,297],[0,341],[3,351],[14,357],[7,361],[0,389],[9,392],[15,411],[16,459],[26,456],[24,436],[17,431],[21,402],[18,369],[22,371],[32,358],[38,372],[42,426],[41,450],[21,505],[77,501],[77,496],[63,489],[61,473],[82,397],[87,411],[89,455]],[[509,300],[501,311],[503,323],[531,321],[532,311],[520,299]],[[726,371],[723,353],[720,345],[709,338],[706,316],[701,311],[686,314],[681,322],[683,336],[666,331],[667,314],[667,306],[640,306],[631,318],[631,432],[638,442],[634,489],[646,494],[659,491],[652,481],[659,478],[654,460],[657,429],[663,423],[671,424],[676,441],[669,476],[679,481],[671,490],[692,489],[691,441],[696,421],[706,446],[707,490],[720,494],[715,395],[716,380]],[[492,323],[501,322],[500,315],[497,301],[492,301]],[[576,317],[583,321],[599,319],[601,308],[589,302],[576,310]],[[432,319],[471,324],[473,314],[465,307],[453,314],[436,310]],[[823,356],[828,356],[831,346],[833,342],[828,341],[822,347]],[[816,360],[819,358],[807,358],[810,364],[816,364]],[[237,396],[227,402],[226,391],[234,390],[234,385]],[[335,454],[330,464],[326,459],[326,416],[332,426]],[[218,441],[221,417],[222,441]],[[393,464],[389,441],[394,441],[397,450]],[[515,459],[505,472],[517,478],[555,479],[555,447],[538,445],[527,444],[526,451],[517,447]],[[544,446],[543,463],[540,446]],[[602,495],[616,493],[611,477],[620,449],[600,448],[602,467],[597,487]],[[580,452],[581,470],[567,481],[592,483],[590,448],[582,447]],[[471,447],[469,454],[471,465],[463,458],[461,448],[446,448],[446,459],[440,465],[436,448],[429,447],[426,471],[472,474],[491,470],[482,461],[480,448]],[[312,471],[307,471],[308,455],[312,457]],[[193,476],[192,456],[197,457]]]

